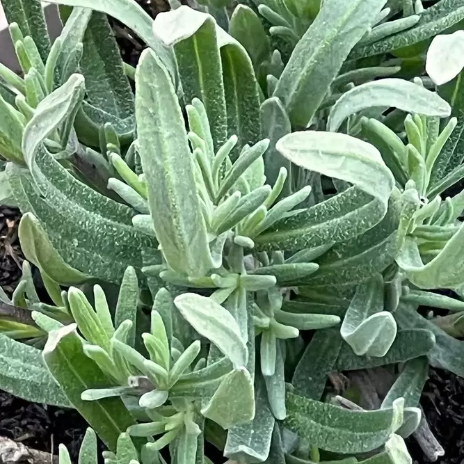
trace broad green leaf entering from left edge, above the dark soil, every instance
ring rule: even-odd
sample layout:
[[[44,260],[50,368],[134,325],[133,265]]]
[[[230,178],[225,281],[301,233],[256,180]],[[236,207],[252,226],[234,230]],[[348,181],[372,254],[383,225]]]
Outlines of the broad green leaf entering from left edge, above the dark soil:
[[[35,403],[70,407],[43,362],[40,350],[0,334],[0,353],[1,390]]]

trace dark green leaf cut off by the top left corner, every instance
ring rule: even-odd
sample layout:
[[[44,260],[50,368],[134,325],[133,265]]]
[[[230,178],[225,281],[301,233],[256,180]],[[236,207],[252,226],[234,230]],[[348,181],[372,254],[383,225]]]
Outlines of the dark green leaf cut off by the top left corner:
[[[8,24],[17,23],[24,36],[30,35],[37,45],[43,63],[50,51],[50,38],[40,0],[3,0]]]

